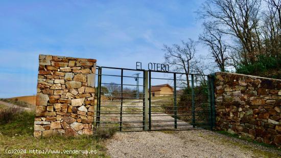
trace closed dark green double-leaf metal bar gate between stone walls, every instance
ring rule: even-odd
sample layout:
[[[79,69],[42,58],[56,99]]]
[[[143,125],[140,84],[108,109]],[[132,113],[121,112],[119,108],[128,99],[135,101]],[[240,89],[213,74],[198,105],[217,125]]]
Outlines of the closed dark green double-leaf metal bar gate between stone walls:
[[[97,66],[96,128],[212,130],[214,76]]]

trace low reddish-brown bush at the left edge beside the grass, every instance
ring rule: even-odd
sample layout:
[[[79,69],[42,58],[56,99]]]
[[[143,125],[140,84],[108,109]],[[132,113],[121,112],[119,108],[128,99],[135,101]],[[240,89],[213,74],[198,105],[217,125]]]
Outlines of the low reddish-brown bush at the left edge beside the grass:
[[[0,122],[9,123],[14,120],[15,116],[22,112],[21,108],[18,107],[9,107],[0,110]]]

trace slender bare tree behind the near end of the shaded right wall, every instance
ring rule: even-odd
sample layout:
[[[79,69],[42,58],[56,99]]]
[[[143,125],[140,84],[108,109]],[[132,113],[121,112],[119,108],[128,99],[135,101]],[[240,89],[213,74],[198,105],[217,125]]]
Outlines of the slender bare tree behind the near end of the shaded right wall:
[[[200,34],[199,40],[209,48],[209,52],[215,59],[217,66],[222,72],[225,72],[227,44],[223,41],[223,33],[216,28],[213,22],[203,23],[204,32]]]

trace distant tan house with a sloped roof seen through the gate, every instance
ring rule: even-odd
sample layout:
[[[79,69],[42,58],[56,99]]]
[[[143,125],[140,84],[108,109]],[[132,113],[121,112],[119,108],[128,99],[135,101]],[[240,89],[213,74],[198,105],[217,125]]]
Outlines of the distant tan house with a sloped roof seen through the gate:
[[[174,88],[169,84],[151,86],[151,97],[168,96],[174,94]]]

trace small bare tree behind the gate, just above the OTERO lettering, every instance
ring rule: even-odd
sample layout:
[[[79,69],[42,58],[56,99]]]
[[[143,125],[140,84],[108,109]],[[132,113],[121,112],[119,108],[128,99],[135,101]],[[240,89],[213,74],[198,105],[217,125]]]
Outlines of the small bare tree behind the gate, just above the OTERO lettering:
[[[195,66],[200,62],[195,57],[196,53],[196,42],[189,38],[187,42],[182,41],[182,46],[178,44],[173,44],[172,47],[169,47],[164,44],[165,60],[171,65],[173,71],[185,73],[187,86],[189,84],[190,73],[195,73]]]

